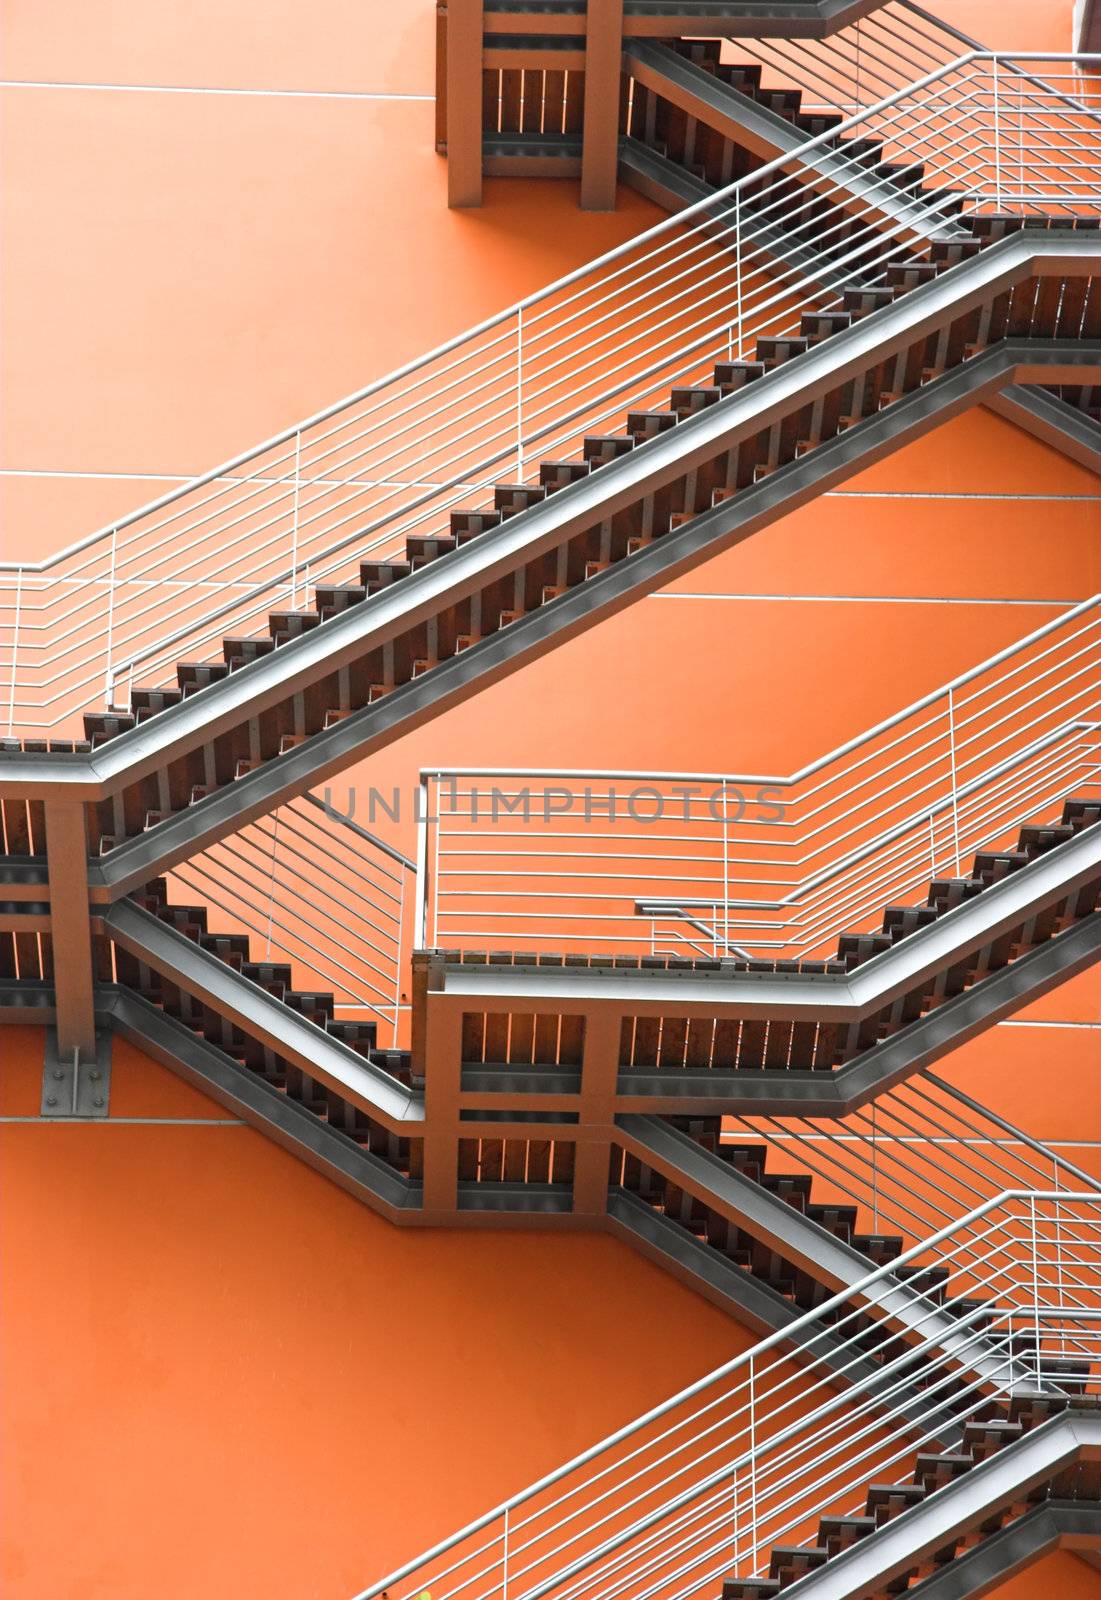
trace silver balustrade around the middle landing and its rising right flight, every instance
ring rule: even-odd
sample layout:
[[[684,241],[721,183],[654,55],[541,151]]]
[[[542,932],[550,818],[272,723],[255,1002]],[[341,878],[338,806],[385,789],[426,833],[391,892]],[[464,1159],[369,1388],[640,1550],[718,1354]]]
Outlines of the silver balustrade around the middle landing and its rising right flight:
[[[823,957],[1101,784],[1101,597],[794,774],[422,773],[418,944]]]

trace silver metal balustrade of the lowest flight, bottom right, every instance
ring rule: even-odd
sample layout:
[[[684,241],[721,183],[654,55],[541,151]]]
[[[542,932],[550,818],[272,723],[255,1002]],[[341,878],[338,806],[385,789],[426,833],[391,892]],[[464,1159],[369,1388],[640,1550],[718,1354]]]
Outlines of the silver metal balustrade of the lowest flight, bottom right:
[[[773,1544],[863,1510],[992,1400],[1055,1390],[1101,1354],[1101,1197],[1007,1192],[920,1246],[944,1304],[869,1274],[512,1496],[357,1600],[667,1600],[767,1571]],[[1056,1259],[1058,1258],[1058,1259]],[[875,1304],[872,1304],[875,1302]],[[981,1302],[981,1304],[978,1304]],[[1085,1379],[1096,1394],[1098,1379]]]

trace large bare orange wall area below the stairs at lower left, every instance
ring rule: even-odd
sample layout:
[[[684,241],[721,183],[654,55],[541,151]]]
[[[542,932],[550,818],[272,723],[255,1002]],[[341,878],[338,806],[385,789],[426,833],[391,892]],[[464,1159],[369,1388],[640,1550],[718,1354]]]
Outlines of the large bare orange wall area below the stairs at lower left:
[[[123,1042],[43,1125],[0,1040],[5,1600],[341,1600],[752,1342],[605,1237],[392,1227]]]

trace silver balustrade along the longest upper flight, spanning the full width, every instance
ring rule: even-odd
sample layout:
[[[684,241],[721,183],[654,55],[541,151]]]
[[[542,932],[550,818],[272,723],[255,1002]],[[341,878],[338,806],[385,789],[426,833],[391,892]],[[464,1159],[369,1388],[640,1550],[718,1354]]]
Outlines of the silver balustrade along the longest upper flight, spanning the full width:
[[[947,190],[965,213],[1093,214],[1091,61],[967,51],[58,555],[0,563],[8,731],[74,736],[136,683],[174,686],[178,659],[221,659],[224,635],[357,581],[360,560],[443,531],[453,507],[488,506],[493,480],[531,480],[539,458],[797,331],[951,232]],[[869,170],[851,149],[864,138],[922,162],[930,192]],[[794,194],[834,200],[835,219],[800,218]]]

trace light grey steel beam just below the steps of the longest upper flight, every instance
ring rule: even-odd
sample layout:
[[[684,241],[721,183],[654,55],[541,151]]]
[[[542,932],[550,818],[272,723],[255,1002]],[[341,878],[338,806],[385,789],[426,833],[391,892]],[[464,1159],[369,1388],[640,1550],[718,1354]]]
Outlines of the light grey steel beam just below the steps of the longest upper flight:
[[[54,784],[64,786],[74,797],[104,798],[118,786],[157,771],[165,760],[237,726],[242,715],[258,715],[278,704],[291,685],[294,691],[302,693],[336,669],[360,659],[366,648],[378,648],[437,614],[442,605],[453,605],[486,582],[514,573],[517,563],[531,562],[591,526],[594,520],[603,520],[626,509],[640,493],[674,482],[712,458],[717,450],[731,448],[765,426],[783,421],[794,405],[808,405],[850,378],[866,373],[877,362],[912,346],[922,334],[943,326],[946,318],[960,317],[1034,275],[1091,277],[1098,262],[1101,262],[1098,235],[1055,230],[1013,234],[803,355],[784,362],[759,382],[707,406],[679,427],[658,434],[600,472],[559,490],[478,539],[427,563],[400,584],[371,595],[322,627],[310,629],[280,650],[210,685],[200,694],[192,694],[120,734],[101,750],[88,757],[5,755],[0,760],[0,782],[5,792],[30,798],[40,797]],[[887,454],[896,448],[901,435],[909,432],[907,422],[912,421],[915,408],[919,413],[927,408],[941,411],[938,421],[943,419],[946,394],[955,395],[955,410],[965,410],[967,405],[986,400],[987,394],[1010,382],[1087,382],[1095,370],[1101,371],[1101,346],[1096,342],[1002,341],[866,421],[883,421],[887,432],[882,435],[882,453]],[[957,386],[962,386],[962,390]],[[851,464],[856,454],[863,454],[863,464],[867,464],[864,446],[869,437],[880,435],[874,435],[866,426],[851,427],[794,462],[792,466],[803,466],[808,474],[805,498],[813,498],[826,486],[839,461],[847,462],[843,475],[856,470]],[[770,501],[784,498],[781,488],[791,485],[792,477],[787,469],[775,472],[765,483],[755,486],[765,490],[773,485],[770,496],[762,499],[754,491],[733,496],[720,507],[723,518],[717,522],[714,514],[704,514],[688,523],[687,530],[706,530],[714,536],[722,526],[730,533],[739,530],[739,536],[744,538],[779,514]],[[759,510],[765,509],[768,515],[759,522]],[[714,554],[711,539],[707,542],[707,554]],[[648,555],[650,550],[669,552],[679,547],[679,539],[666,536],[637,554]],[[703,552],[695,557],[701,558]],[[634,560],[635,557],[629,557],[618,562],[616,568],[642,570],[642,562],[631,566]],[[691,562],[685,563],[685,570],[688,565]],[[664,555],[658,557],[658,570],[659,581],[667,581],[671,574]],[[567,600],[570,595],[560,598]],[[550,614],[555,603],[541,610]],[[507,634],[510,629],[502,632]],[[474,656],[474,651],[464,654]],[[442,670],[437,667],[426,677],[435,677]],[[341,726],[346,728],[352,722],[354,718],[344,718]],[[234,792],[240,790],[242,784],[234,784]]]

